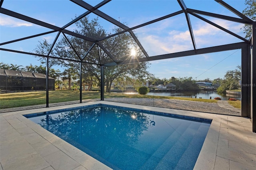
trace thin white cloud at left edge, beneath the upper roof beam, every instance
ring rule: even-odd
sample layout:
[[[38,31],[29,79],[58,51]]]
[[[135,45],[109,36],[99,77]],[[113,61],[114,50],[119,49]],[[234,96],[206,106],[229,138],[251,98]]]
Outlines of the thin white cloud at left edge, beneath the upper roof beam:
[[[33,24],[26,21],[18,20],[16,18],[1,16],[0,26],[20,27],[20,26],[33,26]]]

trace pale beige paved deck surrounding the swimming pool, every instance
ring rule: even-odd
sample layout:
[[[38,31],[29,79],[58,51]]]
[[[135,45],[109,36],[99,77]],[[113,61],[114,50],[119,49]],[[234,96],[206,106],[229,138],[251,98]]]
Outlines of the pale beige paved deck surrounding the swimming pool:
[[[0,114],[0,170],[107,170],[98,160],[22,115],[103,103],[212,119],[195,170],[255,170],[256,133],[250,119],[160,107],[94,101]]]

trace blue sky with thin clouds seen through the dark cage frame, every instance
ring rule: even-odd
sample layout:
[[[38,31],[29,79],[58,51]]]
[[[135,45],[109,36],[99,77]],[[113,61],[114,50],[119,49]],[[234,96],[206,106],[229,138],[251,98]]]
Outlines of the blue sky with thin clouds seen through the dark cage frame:
[[[84,0],[95,6],[101,1]],[[184,0],[187,8],[222,14],[239,18],[214,0]],[[244,0],[224,0],[227,4],[242,12],[246,8]],[[48,22],[52,25],[62,27],[72,21],[75,16],[86,12],[80,6],[68,0],[4,0],[2,8],[18,12],[25,16]],[[171,14],[181,10],[176,0],[112,0],[99,8],[112,18],[134,27],[144,22]],[[89,18],[95,18],[90,14]],[[217,18],[204,16],[206,19],[219,24],[223,28],[244,37],[243,24],[224,21]],[[111,32],[114,25],[102,18],[98,19],[107,32]],[[242,40],[219,30],[218,28],[191,16],[191,25],[198,49],[228,43],[242,42]],[[66,28],[73,31],[73,24]],[[24,22],[4,14],[0,14],[0,42],[8,42],[51,31],[35,24]],[[179,14],[172,18],[138,28],[134,30],[138,40],[143,45],[149,56],[162,55],[186,50],[192,50],[193,45],[188,30],[185,14]],[[56,33],[39,36],[11,44],[1,45],[1,48],[14,49],[18,51],[32,52],[39,41],[44,39],[52,42]],[[38,58],[19,53],[0,51],[0,62],[16,65],[40,65]],[[224,78],[226,71],[234,70],[241,65],[241,50],[232,50],[218,53],[208,53],[188,57],[178,57],[150,62],[148,71],[155,77],[170,79],[171,77],[192,77],[195,80],[209,78],[211,80]],[[57,66],[55,69],[59,69]]]

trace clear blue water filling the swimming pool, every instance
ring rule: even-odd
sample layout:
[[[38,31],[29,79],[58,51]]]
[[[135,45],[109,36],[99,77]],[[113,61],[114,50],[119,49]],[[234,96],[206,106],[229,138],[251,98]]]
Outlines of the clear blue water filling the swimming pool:
[[[93,105],[25,115],[112,169],[193,169],[211,120]]]

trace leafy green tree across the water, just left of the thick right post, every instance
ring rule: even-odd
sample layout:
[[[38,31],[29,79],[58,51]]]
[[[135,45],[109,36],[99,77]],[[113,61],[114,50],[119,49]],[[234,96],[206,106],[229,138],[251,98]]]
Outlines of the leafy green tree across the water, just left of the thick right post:
[[[218,93],[225,93],[226,90],[240,89],[239,80],[241,80],[241,66],[238,65],[236,69],[227,71],[223,81],[218,87]]]

